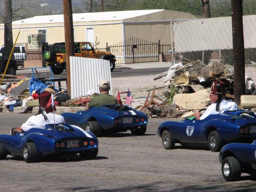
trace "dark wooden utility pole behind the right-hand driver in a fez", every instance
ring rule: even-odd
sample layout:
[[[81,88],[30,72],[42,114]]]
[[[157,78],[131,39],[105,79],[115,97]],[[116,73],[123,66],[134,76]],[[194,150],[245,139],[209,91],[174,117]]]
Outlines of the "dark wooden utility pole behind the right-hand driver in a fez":
[[[240,104],[241,95],[245,94],[244,82],[244,30],[242,0],[231,0],[232,34],[234,55],[234,102]]]

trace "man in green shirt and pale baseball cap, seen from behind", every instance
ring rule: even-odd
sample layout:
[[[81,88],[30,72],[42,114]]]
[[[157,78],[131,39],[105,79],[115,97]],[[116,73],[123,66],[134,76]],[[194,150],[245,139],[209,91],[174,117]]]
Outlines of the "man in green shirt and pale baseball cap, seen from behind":
[[[110,90],[110,83],[107,79],[101,79],[99,84],[100,95],[91,98],[90,102],[86,104],[85,110],[92,107],[99,107],[107,104],[117,104],[116,98],[108,94]]]

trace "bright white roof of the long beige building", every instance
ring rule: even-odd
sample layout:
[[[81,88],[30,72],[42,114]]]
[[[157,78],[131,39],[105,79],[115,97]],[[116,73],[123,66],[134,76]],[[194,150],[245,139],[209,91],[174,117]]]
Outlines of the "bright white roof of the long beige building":
[[[161,11],[164,11],[164,9],[76,13],[76,14],[73,14],[73,22],[117,21],[117,20],[124,20],[128,18],[148,15],[148,14],[161,12]],[[59,15],[34,16],[32,18],[14,21],[12,22],[12,25],[50,24],[50,23],[63,23],[63,22],[64,22],[63,14],[59,14]]]

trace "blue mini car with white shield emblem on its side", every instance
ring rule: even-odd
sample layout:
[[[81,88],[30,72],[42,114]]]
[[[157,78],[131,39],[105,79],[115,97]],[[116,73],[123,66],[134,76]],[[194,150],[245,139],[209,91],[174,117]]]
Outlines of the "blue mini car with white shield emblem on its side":
[[[230,142],[251,143],[256,137],[256,118],[251,111],[226,111],[224,114],[209,115],[203,120],[194,118],[163,122],[157,132],[165,149],[172,149],[175,143],[180,143],[193,147],[208,145],[212,152],[216,152]]]

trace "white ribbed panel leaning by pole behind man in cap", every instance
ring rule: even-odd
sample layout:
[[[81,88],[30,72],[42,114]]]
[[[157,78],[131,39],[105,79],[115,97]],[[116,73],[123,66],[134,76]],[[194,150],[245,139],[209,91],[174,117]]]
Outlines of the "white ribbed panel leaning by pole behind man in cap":
[[[108,60],[70,57],[71,98],[85,96],[90,90],[98,91],[100,79],[110,82],[110,95],[113,95],[110,63]]]

